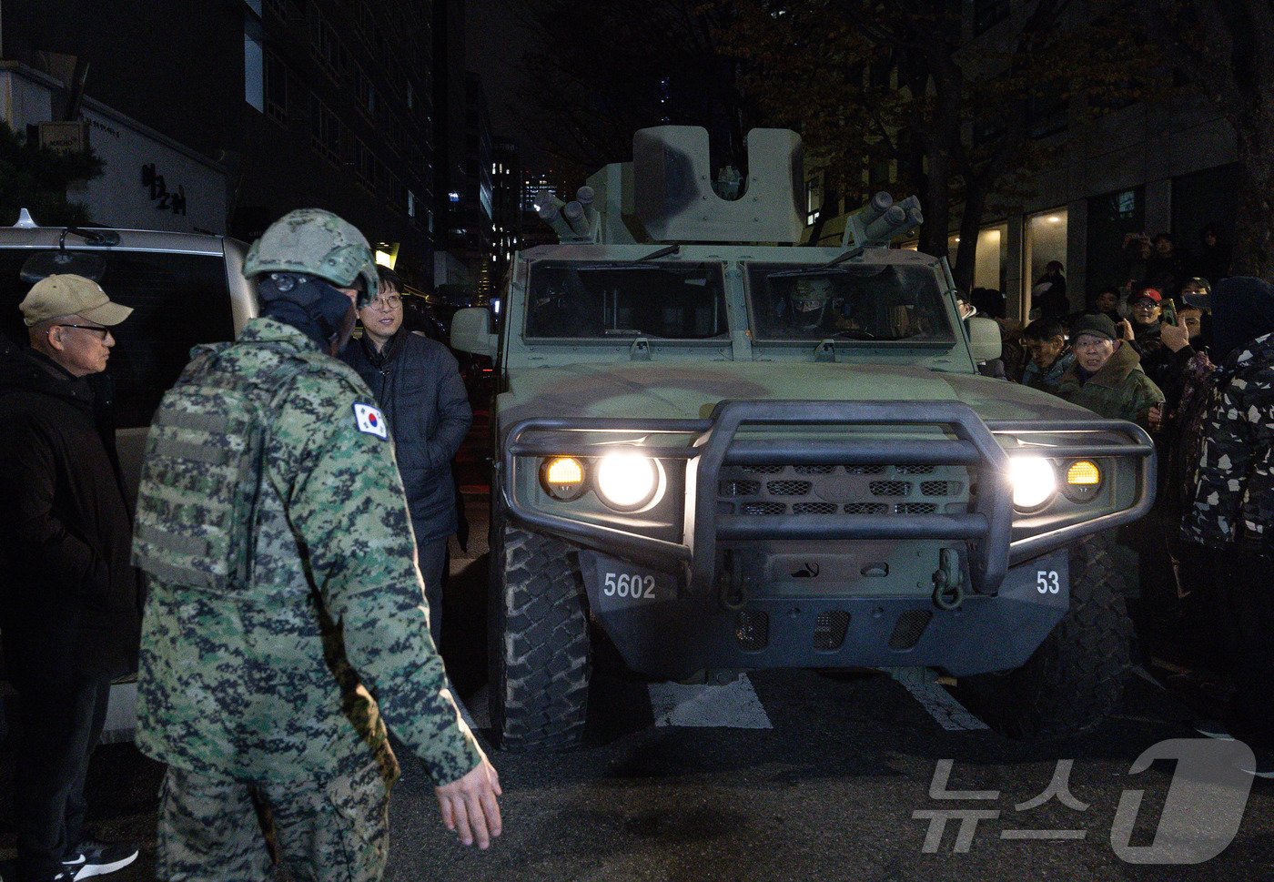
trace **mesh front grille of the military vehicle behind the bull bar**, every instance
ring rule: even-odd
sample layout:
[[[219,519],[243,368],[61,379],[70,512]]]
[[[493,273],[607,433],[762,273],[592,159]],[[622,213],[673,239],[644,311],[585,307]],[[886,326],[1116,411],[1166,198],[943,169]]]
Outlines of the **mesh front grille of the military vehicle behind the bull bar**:
[[[970,510],[961,465],[743,465],[721,469],[722,515],[935,515]]]

